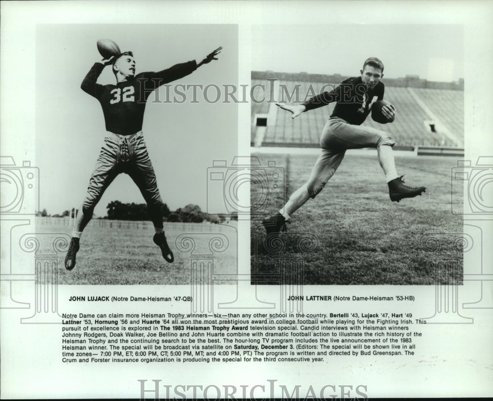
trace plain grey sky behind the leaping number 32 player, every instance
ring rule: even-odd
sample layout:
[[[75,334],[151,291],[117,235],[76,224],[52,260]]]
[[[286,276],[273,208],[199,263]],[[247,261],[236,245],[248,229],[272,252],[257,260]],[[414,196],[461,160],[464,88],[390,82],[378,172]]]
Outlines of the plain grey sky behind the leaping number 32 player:
[[[80,207],[103,144],[101,105],[80,89],[86,73],[102,59],[96,47],[100,38],[114,40],[121,51],[132,50],[136,73],[194,59],[200,62],[223,46],[217,61],[175,83],[204,87],[238,83],[236,25],[38,25],[35,153],[40,208],[49,214]],[[98,82],[115,83],[110,67]],[[217,92],[211,87],[207,94],[213,100]],[[231,161],[237,154],[238,111],[233,103],[204,101],[200,91],[197,103],[191,102],[191,91],[186,95],[181,104],[165,103],[164,91],[151,95],[142,128],[163,201],[172,210],[193,203],[205,211],[207,168],[214,159]],[[95,214],[105,216],[106,205],[114,200],[144,203],[126,174],[109,186]]]

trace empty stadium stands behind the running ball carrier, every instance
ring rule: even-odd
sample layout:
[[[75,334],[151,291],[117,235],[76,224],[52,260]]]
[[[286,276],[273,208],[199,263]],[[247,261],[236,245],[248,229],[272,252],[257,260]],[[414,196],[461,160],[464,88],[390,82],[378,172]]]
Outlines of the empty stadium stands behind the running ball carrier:
[[[252,71],[255,100],[251,103],[252,146],[318,147],[319,135],[332,113],[334,104],[311,110],[302,118],[292,119],[287,112],[277,112],[276,101],[300,103],[324,90],[337,86],[345,76]],[[464,146],[464,83],[431,82],[415,75],[385,79],[385,99],[397,110],[392,124],[375,123],[371,117],[365,125],[388,131],[397,147],[414,150],[417,146],[447,148],[459,153]],[[274,96],[271,96],[274,93]],[[463,149],[462,149],[463,152]]]

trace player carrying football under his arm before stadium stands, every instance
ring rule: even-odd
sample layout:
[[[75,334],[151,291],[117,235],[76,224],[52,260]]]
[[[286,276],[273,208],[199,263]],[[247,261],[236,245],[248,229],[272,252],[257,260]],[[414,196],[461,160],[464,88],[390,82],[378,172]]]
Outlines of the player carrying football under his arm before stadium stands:
[[[310,198],[314,199],[332,177],[342,162],[347,149],[377,148],[378,161],[384,170],[391,201],[414,198],[425,191],[425,187],[412,188],[404,185],[402,176],[395,169],[392,146],[394,140],[384,131],[361,127],[370,113],[372,104],[384,99],[383,63],[370,57],[363,64],[361,75],[344,80],[330,92],[324,92],[296,106],[276,103],[292,113],[292,118],[330,102],[337,102],[332,115],[325,124],[320,137],[321,155],[318,157],[308,182],[298,188],[275,216],[266,218],[262,224],[268,234],[285,230],[290,216]],[[382,114],[393,121],[395,108],[385,105]]]

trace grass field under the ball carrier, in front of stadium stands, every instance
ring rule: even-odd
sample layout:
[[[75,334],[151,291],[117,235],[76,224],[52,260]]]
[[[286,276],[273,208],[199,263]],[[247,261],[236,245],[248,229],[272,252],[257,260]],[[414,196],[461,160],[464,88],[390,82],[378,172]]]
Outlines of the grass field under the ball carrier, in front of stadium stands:
[[[317,156],[258,156],[264,166],[274,160],[285,169],[284,193],[269,193],[269,216],[306,182]],[[259,221],[252,222],[252,274],[279,274],[281,262],[299,264],[301,256],[304,284],[435,284],[433,262],[440,255],[423,247],[423,235],[439,235],[441,255],[455,253],[454,234],[463,231],[461,217],[451,213],[450,177],[456,165],[452,157],[396,157],[397,172],[406,174],[406,184],[427,188],[421,197],[396,203],[389,200],[376,152],[346,155],[323,191],[291,217],[287,233],[280,234],[282,252],[267,247],[265,230]],[[251,198],[258,198],[260,191],[252,183]],[[461,192],[455,195],[460,199]],[[317,238],[313,252],[299,249],[298,241],[306,234]],[[462,282],[460,252],[456,262],[441,272],[442,284]]]

